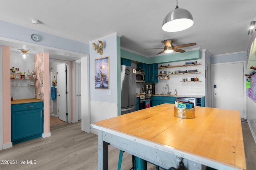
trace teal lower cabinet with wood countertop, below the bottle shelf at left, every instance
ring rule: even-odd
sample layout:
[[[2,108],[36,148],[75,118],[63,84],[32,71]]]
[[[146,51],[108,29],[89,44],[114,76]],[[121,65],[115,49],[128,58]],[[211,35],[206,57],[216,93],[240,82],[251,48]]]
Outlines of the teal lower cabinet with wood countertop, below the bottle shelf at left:
[[[44,132],[44,103],[32,102],[11,105],[12,143],[42,137]]]

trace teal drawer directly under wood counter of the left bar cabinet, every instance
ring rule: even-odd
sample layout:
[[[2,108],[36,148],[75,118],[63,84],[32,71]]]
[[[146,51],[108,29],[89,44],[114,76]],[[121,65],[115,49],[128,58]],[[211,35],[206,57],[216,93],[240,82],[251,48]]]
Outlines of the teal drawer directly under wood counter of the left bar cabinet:
[[[22,103],[22,104],[12,104],[12,112],[24,111],[24,110],[33,110],[33,109],[42,109],[44,107],[43,102],[31,102],[31,103]]]

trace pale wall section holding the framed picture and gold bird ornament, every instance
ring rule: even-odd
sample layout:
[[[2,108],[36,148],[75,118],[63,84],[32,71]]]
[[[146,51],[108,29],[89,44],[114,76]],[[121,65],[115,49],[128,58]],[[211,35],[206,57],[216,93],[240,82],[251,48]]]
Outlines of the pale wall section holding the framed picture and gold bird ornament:
[[[90,119],[91,123],[118,115],[117,109],[117,38],[116,34],[99,39],[104,43],[103,55],[90,48]],[[96,43],[98,40],[90,42]],[[109,57],[109,89],[95,88],[95,59]],[[108,92],[111,95],[108,95]]]

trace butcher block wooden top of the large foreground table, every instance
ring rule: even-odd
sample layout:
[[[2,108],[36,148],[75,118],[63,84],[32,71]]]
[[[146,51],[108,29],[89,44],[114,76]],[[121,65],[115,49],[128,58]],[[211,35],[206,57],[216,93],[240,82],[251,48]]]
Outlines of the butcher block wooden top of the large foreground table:
[[[174,117],[174,104],[162,104],[92,124],[246,169],[240,113],[195,106],[195,118]]]

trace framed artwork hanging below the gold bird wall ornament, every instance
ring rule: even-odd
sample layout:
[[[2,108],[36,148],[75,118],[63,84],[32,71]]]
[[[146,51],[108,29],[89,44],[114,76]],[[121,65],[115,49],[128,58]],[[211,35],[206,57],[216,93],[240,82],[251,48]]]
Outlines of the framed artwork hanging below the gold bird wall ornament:
[[[95,59],[95,89],[109,89],[109,57]]]

